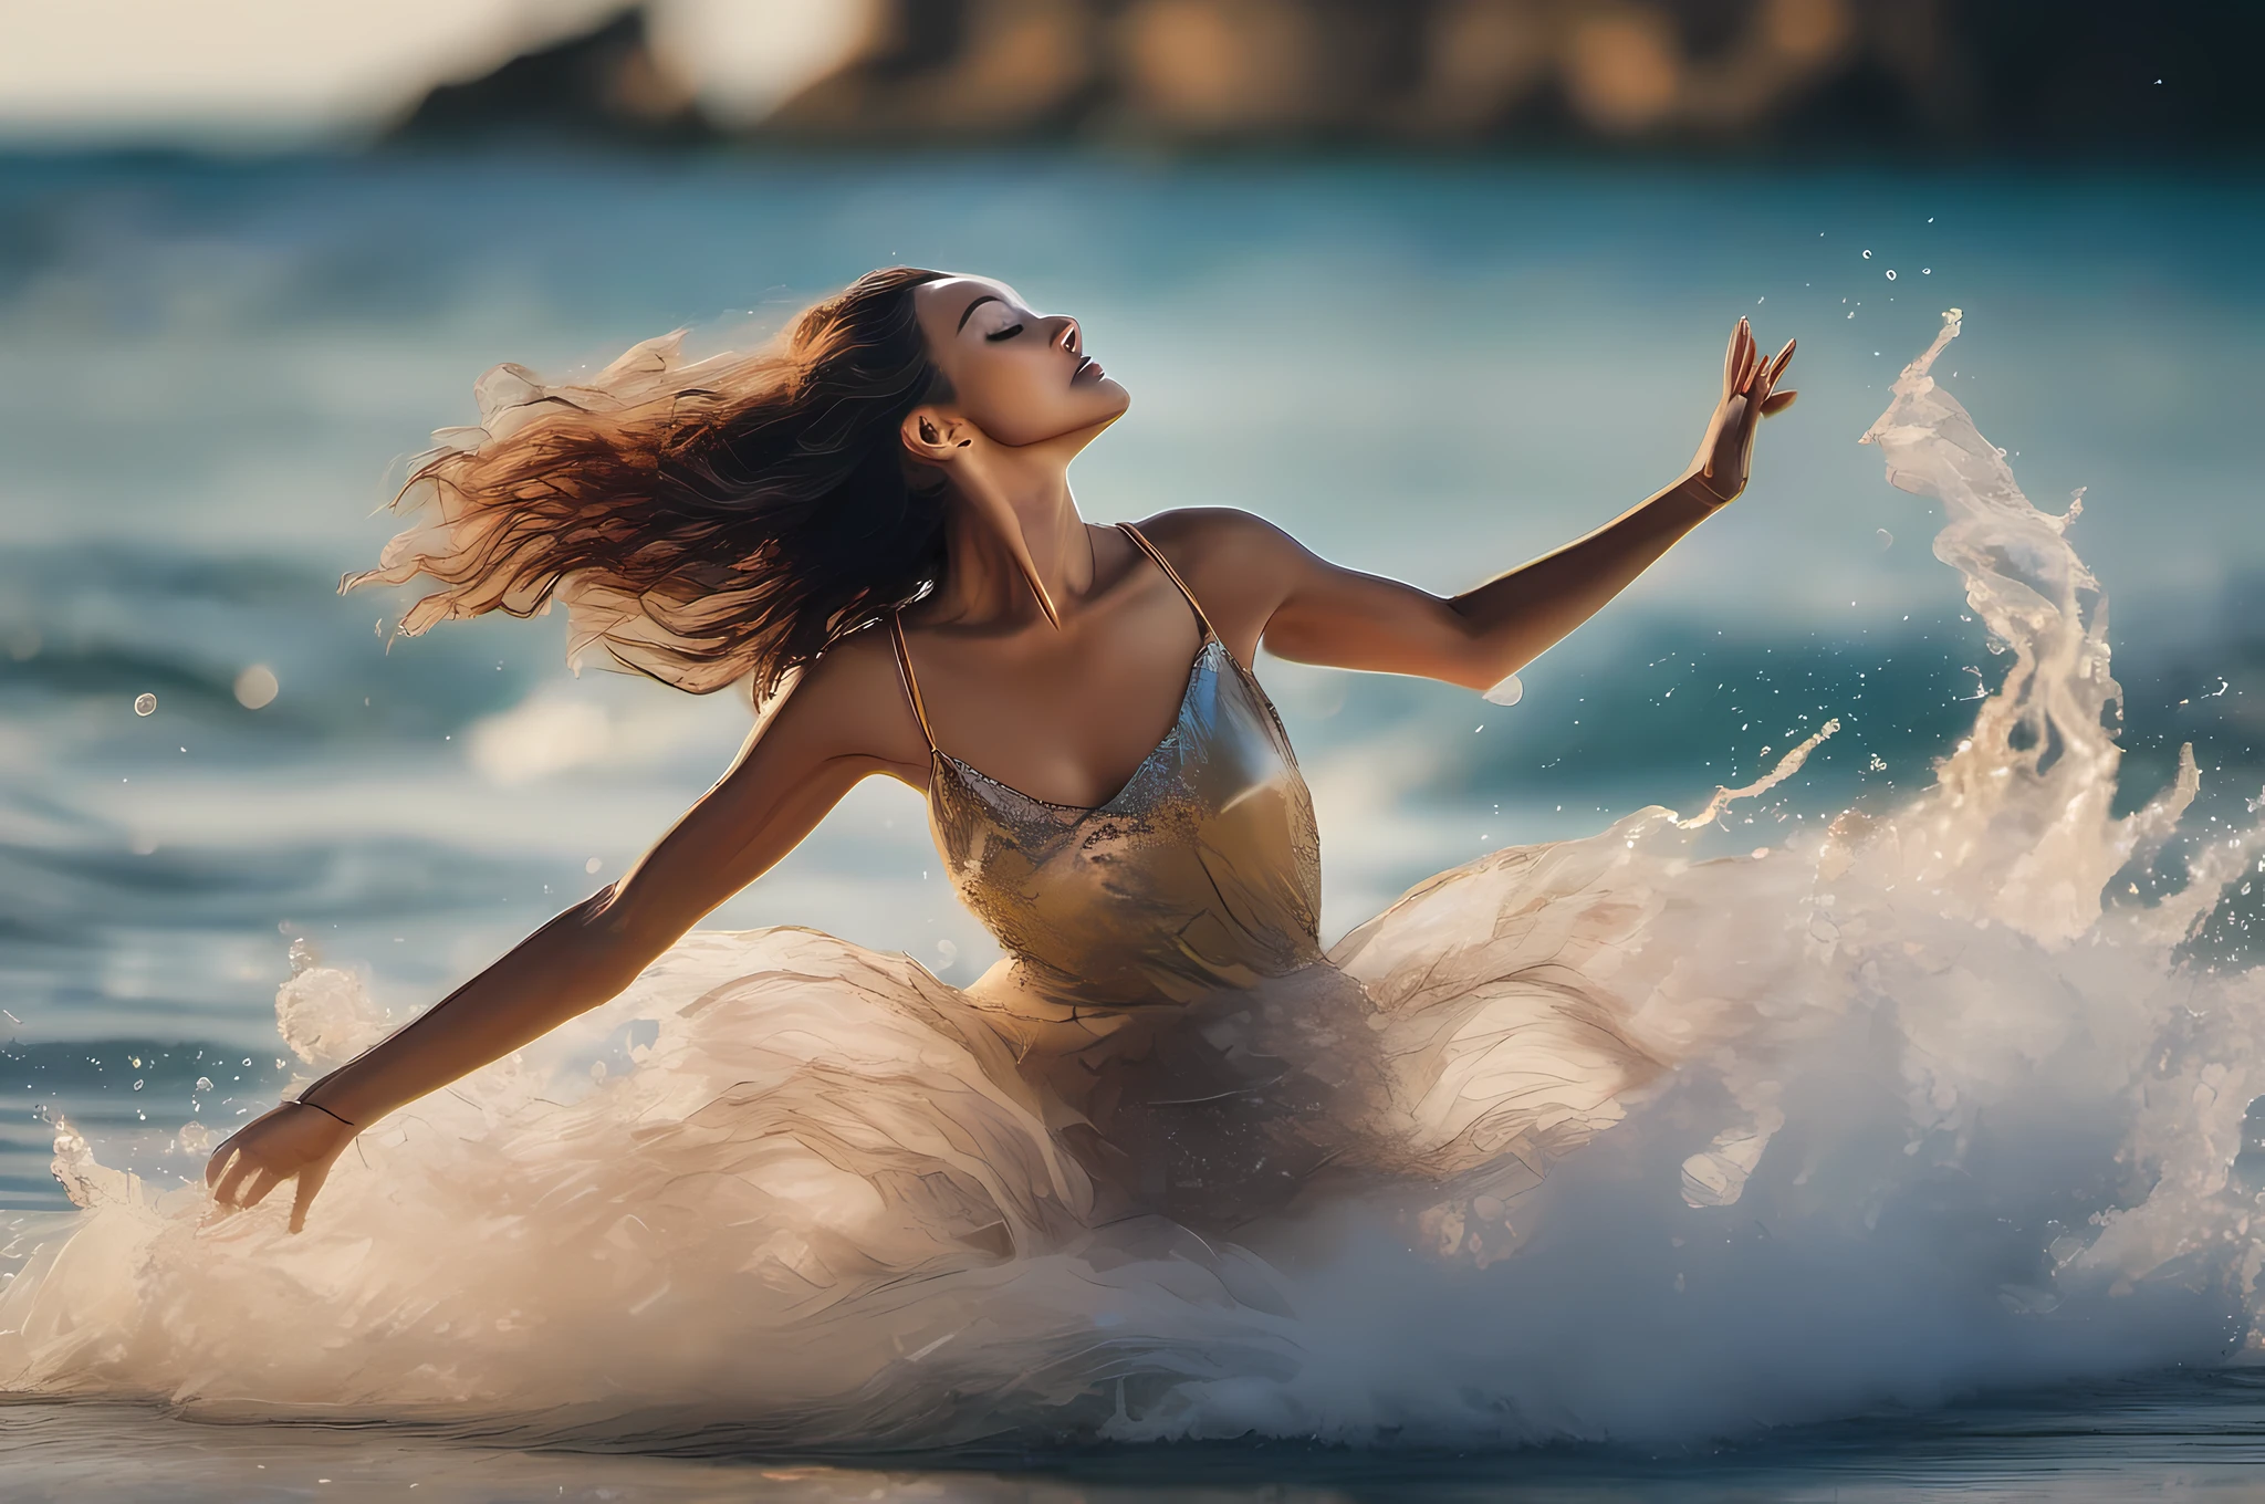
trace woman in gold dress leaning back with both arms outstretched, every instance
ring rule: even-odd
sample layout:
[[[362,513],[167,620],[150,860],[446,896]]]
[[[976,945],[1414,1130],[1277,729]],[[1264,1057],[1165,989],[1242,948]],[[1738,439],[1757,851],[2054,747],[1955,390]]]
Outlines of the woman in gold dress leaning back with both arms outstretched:
[[[926,795],[951,879],[1008,958],[963,994],[892,974],[797,1026],[911,1028],[988,1105],[877,1078],[870,1103],[829,1099],[820,1130],[788,1078],[822,1071],[822,1051],[768,1103],[741,1101],[770,1114],[763,1133],[824,1137],[827,1164],[883,1187],[935,1246],[1003,1255],[1137,1212],[1248,1232],[1357,1182],[1515,1189],[1642,1078],[1642,1040],[1576,983],[1506,1003],[1502,965],[1447,979],[1407,954],[1413,920],[1325,958],[1311,804],[1248,664],[1264,643],[1497,684],[1742,492],[1755,424],[1794,401],[1776,390],[1792,351],[1762,358],[1740,319],[1674,485],[1452,600],[1325,564],[1243,512],[1085,523],[1069,462],[1130,399],[1076,319],[981,276],[872,272],[754,360],[675,367],[655,342],[584,390],[503,367],[480,442],[417,476],[428,525],[360,580],[439,582],[410,632],[559,598],[578,652],[698,693],[745,677],[766,711],[630,872],[231,1135],[206,1182],[247,1207],[297,1180],[299,1230],[369,1123],[618,994],[881,772]],[[1427,1040],[1513,1006],[1531,1044],[1579,1058],[1554,1074],[1579,1085],[1465,1080],[1443,1105],[1468,1058]],[[750,1006],[743,1024],[768,1017]],[[1001,1114],[1031,1123],[1012,1153],[1044,1169],[994,1173],[965,1148],[1015,1137],[969,1126]],[[840,1232],[843,1216],[802,1216]]]

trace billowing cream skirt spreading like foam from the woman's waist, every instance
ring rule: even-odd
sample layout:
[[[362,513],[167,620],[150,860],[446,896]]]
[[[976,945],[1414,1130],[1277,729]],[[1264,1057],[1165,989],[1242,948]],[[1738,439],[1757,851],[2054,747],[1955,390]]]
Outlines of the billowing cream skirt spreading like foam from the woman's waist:
[[[1114,1160],[981,988],[806,929],[695,931],[553,1040],[376,1123],[299,1237],[288,1189],[206,1221],[202,1187],[152,1198],[66,1133],[91,1223],[0,1302],[7,1379],[553,1425],[684,1425],[732,1395],[811,1441],[947,1427],[956,1386],[931,1379],[956,1364],[988,1416],[1001,1384],[1096,1404],[1096,1375],[1146,1366],[1094,1368],[1112,1305],[1128,1352],[1232,1368],[1282,1341],[1282,1271],[1345,1219],[1434,1259],[1506,1255],[1549,1164],[1660,1074],[1692,1015],[1644,960],[1665,947],[1631,951],[1674,922],[1626,883],[1663,861],[1629,834],[1672,831],[1660,813],[1488,856],[1309,972],[1173,1010]],[[317,1069],[383,1028],[319,967],[279,1008]],[[1207,1092],[1223,1058],[1264,1060],[1266,1087]],[[1207,1311],[1259,1327],[1221,1341]]]

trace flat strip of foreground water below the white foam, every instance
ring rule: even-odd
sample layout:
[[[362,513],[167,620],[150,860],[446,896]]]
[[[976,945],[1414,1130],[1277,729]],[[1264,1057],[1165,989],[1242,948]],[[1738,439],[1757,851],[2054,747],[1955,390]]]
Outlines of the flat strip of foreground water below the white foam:
[[[1674,1452],[1393,1452],[1248,1443],[976,1450],[954,1456],[729,1459],[512,1452],[371,1427],[188,1425],[147,1409],[0,1409],[9,1497],[763,1499],[847,1504],[1792,1504],[1830,1499],[2256,1499],[2254,1377],[2174,1377],[1882,1413]],[[414,1490],[412,1490],[414,1488]]]

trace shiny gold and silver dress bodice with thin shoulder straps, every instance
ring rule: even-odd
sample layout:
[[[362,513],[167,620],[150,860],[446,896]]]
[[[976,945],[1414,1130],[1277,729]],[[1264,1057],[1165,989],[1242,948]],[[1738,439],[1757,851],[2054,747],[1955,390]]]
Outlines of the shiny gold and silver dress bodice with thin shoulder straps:
[[[1320,838],[1282,720],[1171,564],[1203,646],[1180,713],[1105,804],[1010,788],[931,736],[929,824],[1024,992],[1076,1012],[1185,1003],[1320,958]],[[917,677],[897,634],[922,729]]]

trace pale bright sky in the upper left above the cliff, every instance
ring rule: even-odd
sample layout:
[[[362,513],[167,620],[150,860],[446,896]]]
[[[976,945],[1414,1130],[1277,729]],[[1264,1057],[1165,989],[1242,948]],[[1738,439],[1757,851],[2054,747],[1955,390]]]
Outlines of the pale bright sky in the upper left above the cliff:
[[[383,127],[621,0],[0,0],[0,140],[319,143]],[[723,120],[863,36],[870,0],[657,0],[655,48]]]

